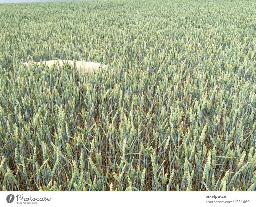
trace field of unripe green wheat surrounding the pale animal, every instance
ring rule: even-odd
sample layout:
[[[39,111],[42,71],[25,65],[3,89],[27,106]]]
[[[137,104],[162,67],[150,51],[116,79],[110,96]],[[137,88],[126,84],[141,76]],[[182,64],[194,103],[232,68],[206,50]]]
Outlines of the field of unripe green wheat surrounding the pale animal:
[[[0,189],[254,191],[256,2],[0,4]],[[83,59],[78,74],[29,60]]]

